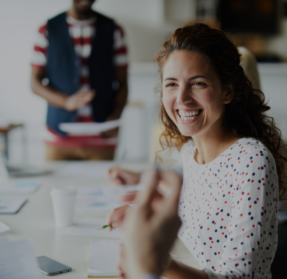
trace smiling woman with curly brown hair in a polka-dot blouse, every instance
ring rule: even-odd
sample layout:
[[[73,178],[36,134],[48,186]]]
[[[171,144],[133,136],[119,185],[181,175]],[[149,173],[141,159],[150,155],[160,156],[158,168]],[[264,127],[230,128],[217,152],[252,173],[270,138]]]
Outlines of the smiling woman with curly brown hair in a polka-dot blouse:
[[[178,28],[155,57],[161,142],[183,161],[178,236],[204,269],[171,260],[171,279],[272,278],[287,159],[240,56],[224,32],[197,23]]]

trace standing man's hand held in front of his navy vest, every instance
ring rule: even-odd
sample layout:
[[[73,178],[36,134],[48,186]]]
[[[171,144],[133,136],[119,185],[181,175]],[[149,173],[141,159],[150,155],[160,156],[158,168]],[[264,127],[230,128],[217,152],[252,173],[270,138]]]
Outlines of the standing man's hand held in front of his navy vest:
[[[95,90],[79,90],[66,98],[64,108],[69,111],[76,110],[89,103],[95,96]]]

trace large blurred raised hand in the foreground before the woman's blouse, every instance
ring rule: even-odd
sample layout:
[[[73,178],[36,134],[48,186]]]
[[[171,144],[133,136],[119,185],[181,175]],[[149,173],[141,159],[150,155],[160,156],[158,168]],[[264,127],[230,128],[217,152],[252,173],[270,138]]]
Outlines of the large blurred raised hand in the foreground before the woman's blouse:
[[[171,185],[170,196],[158,192],[160,180]],[[147,188],[137,197],[138,207],[127,210],[124,225],[127,243],[121,274],[131,279],[162,273],[181,225],[177,215],[181,178],[172,173],[153,172],[145,174],[143,183]]]

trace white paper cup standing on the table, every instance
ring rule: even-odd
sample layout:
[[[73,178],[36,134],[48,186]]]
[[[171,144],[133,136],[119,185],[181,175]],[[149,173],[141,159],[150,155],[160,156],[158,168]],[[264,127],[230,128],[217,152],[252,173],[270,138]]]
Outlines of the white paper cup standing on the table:
[[[76,188],[74,186],[53,187],[50,195],[56,226],[64,227],[72,224],[76,205]]]

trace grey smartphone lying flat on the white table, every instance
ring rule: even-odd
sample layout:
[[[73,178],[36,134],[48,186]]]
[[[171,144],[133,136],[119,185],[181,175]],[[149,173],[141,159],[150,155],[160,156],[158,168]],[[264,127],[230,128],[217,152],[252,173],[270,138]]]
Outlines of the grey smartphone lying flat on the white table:
[[[47,256],[37,256],[37,260],[39,262],[38,270],[48,276],[65,273],[72,270],[71,267],[55,261]]]

